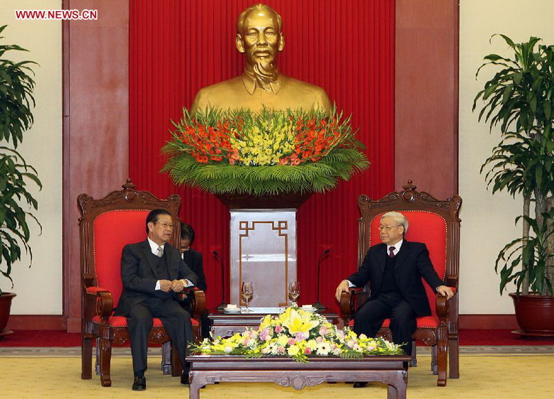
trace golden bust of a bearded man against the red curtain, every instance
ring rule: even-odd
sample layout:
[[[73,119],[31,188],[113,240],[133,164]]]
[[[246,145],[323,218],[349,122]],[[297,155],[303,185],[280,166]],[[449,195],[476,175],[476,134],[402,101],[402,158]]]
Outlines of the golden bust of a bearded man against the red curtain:
[[[191,111],[207,107],[259,111],[265,106],[329,112],[331,102],[325,90],[279,74],[276,58],[285,46],[282,25],[280,15],[265,4],[241,12],[236,23],[236,48],[245,54],[243,74],[198,91]]]

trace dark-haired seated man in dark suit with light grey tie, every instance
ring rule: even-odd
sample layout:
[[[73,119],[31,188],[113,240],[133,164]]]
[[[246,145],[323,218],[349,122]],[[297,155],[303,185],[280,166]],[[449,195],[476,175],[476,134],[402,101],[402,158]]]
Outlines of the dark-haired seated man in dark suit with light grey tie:
[[[147,340],[152,318],[161,319],[183,365],[181,383],[188,384],[185,363],[187,342],[194,341],[189,313],[176,300],[177,292],[195,285],[198,277],[168,244],[173,220],[165,209],[154,209],[146,217],[147,239],[127,244],[121,255],[123,292],[116,316],[126,316],[133,358],[134,391],[146,389]]]

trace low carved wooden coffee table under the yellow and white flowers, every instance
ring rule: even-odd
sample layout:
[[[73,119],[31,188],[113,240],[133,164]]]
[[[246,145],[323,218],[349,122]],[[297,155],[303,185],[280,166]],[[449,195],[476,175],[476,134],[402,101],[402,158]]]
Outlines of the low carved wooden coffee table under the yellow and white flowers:
[[[201,387],[216,382],[275,382],[302,389],[321,382],[377,381],[389,385],[387,398],[406,398],[410,356],[365,356],[342,359],[314,356],[297,363],[285,356],[245,359],[238,355],[189,355],[191,399],[200,398]]]

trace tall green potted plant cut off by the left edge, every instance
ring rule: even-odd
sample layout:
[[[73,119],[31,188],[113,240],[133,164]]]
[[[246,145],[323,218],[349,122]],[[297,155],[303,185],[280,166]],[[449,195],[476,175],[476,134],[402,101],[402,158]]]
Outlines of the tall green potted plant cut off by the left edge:
[[[0,27],[0,34],[5,28],[6,25]],[[3,37],[0,36],[0,39]],[[26,203],[36,210],[38,204],[28,191],[27,184],[34,182],[39,188],[42,186],[37,171],[17,151],[23,132],[33,123],[34,80],[30,65],[36,63],[16,63],[6,59],[6,52],[12,50],[27,50],[18,45],[0,44],[0,272],[13,287],[12,266],[21,261],[22,248],[32,260],[27,222],[29,217],[35,221],[37,218],[24,207]],[[14,293],[0,289],[0,336],[8,333],[5,329],[14,296]]]

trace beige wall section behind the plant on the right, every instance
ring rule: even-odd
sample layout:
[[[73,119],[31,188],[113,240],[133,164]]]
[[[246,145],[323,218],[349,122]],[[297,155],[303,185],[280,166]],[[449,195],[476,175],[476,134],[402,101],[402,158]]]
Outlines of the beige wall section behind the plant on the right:
[[[494,262],[499,250],[520,233],[514,219],[522,213],[522,201],[506,193],[491,195],[479,169],[500,141],[498,129],[479,123],[472,113],[473,98],[493,76],[475,72],[487,54],[513,56],[502,38],[513,41],[542,37],[543,44],[554,43],[554,1],[551,0],[460,0],[460,195],[462,205],[462,248],[460,259],[460,313],[513,314],[507,294],[498,292],[499,277]],[[511,286],[509,292],[513,292]]]

